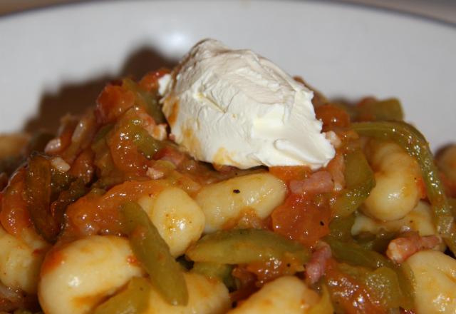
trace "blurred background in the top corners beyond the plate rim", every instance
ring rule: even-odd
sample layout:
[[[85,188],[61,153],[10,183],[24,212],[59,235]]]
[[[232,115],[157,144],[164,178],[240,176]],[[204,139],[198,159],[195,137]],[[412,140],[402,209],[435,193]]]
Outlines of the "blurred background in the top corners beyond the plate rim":
[[[0,15],[53,4],[88,0],[0,0]],[[112,0],[98,0],[112,1]],[[229,0],[227,0],[229,1]],[[249,1],[249,0],[245,0]],[[299,1],[299,0],[295,0]],[[314,0],[316,1],[316,0]],[[456,0],[329,0],[393,9],[456,24]]]

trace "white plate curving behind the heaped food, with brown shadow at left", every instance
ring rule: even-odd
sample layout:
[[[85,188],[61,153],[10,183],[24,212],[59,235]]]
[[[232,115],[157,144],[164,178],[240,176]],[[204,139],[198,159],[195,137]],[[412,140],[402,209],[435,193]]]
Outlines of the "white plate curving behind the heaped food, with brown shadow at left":
[[[253,49],[330,97],[398,96],[434,148],[455,139],[455,27],[316,1],[104,1],[1,18],[0,131],[55,123],[108,78],[169,63],[204,37]]]

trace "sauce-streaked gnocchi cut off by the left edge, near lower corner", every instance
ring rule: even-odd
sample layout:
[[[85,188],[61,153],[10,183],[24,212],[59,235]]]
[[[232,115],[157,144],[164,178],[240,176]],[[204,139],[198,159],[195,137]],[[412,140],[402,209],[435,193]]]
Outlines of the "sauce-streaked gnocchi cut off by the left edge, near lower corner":
[[[38,275],[48,245],[36,233],[11,236],[0,226],[0,281],[10,288],[35,294]]]

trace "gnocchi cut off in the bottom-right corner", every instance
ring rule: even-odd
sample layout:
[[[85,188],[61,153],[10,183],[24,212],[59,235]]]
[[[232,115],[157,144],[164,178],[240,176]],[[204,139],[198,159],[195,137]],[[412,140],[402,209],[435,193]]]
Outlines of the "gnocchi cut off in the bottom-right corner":
[[[456,260],[436,250],[422,250],[407,263],[415,276],[417,314],[456,313]]]

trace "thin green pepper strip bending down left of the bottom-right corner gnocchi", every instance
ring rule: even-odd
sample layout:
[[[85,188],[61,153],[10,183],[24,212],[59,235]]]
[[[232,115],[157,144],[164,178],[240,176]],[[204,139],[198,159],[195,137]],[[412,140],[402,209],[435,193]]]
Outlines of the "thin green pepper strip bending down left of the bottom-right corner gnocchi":
[[[401,306],[405,309],[413,308],[413,273],[405,264],[396,265],[380,253],[373,250],[364,250],[356,243],[343,243],[332,237],[326,237],[325,241],[331,247],[331,253],[336,260],[371,269],[388,267],[394,270],[398,276],[400,290],[404,296]]]

